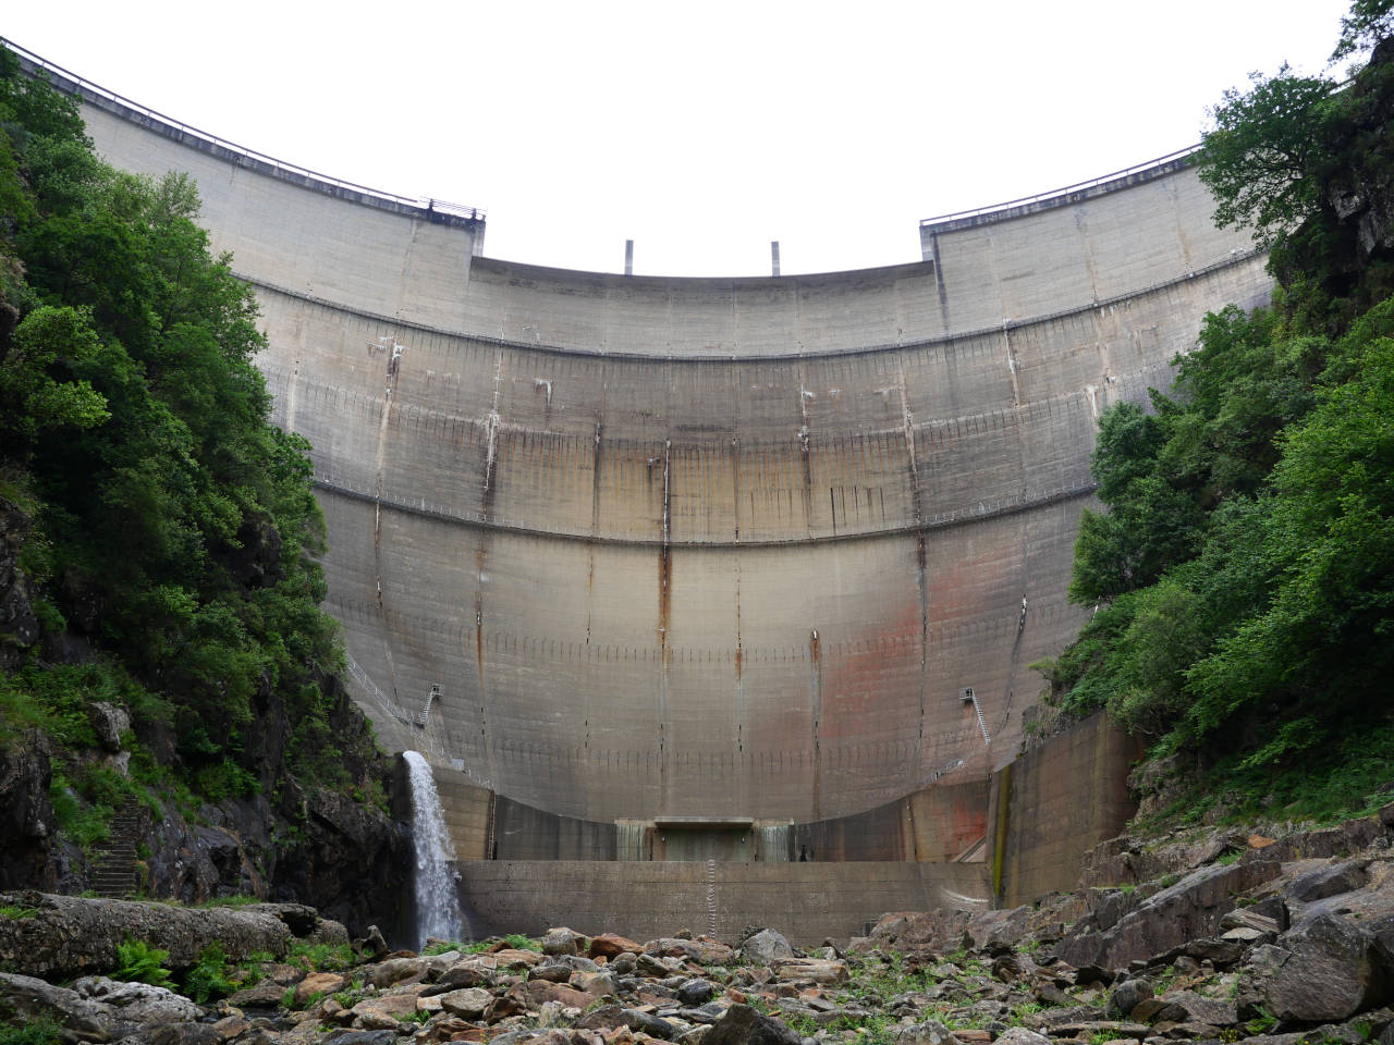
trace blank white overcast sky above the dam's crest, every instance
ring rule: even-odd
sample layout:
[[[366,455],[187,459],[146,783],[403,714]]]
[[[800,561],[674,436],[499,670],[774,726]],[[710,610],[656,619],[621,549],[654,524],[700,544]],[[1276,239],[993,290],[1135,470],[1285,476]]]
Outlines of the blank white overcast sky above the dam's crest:
[[[1348,0],[67,0],[0,35],[240,145],[488,210],[485,254],[640,274],[919,261],[921,217],[1188,146]]]

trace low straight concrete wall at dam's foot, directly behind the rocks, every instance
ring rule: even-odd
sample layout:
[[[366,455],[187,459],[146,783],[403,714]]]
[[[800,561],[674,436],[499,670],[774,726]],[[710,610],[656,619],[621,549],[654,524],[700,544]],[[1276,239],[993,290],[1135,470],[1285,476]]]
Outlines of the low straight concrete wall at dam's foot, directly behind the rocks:
[[[983,864],[461,861],[475,936],[577,932],[648,939],[689,928],[739,939],[775,925],[796,946],[866,934],[885,911],[987,907]]]

